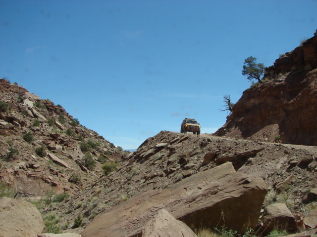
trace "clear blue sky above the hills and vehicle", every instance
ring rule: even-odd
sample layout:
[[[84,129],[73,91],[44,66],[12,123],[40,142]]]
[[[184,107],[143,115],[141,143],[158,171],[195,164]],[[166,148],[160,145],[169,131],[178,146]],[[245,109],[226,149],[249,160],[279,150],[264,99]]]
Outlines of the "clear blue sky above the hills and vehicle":
[[[0,77],[60,104],[123,149],[196,118],[317,29],[317,0],[0,0]]]

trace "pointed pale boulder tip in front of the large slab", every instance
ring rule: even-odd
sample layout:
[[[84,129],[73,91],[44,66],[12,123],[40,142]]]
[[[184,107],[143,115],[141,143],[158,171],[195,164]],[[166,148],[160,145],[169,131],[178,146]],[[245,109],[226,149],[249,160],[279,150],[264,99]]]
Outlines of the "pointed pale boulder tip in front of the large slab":
[[[149,221],[142,231],[142,237],[197,237],[183,222],[176,220],[165,209]]]

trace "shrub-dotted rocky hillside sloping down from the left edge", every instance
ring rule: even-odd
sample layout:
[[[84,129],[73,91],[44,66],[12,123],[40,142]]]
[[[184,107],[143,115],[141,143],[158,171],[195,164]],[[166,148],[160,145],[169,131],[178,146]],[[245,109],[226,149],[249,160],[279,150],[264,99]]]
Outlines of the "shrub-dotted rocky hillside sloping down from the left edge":
[[[105,160],[122,157],[60,105],[5,79],[0,79],[0,144],[1,187],[10,186],[18,196],[71,195],[98,180]]]

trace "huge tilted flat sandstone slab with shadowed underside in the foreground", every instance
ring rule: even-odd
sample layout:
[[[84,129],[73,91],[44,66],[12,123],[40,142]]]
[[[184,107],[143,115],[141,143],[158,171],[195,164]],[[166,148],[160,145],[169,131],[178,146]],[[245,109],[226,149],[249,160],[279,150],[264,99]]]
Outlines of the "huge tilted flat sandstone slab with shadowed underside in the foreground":
[[[85,228],[82,237],[133,237],[162,208],[191,229],[225,224],[241,232],[255,228],[265,195],[262,178],[236,172],[227,162],[101,213]]]

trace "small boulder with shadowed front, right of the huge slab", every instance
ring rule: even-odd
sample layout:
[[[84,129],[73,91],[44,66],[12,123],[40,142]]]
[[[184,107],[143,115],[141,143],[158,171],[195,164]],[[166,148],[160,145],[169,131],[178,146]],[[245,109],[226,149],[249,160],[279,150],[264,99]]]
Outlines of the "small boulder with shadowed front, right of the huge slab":
[[[264,234],[273,229],[286,230],[288,233],[297,232],[297,224],[294,216],[284,203],[274,203],[264,208]]]

